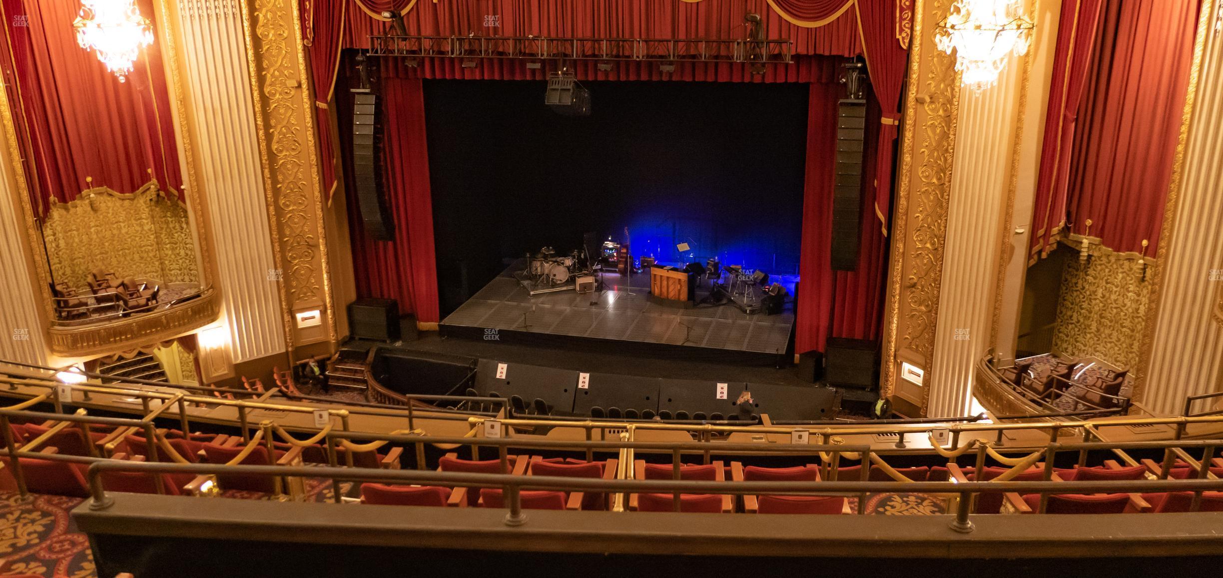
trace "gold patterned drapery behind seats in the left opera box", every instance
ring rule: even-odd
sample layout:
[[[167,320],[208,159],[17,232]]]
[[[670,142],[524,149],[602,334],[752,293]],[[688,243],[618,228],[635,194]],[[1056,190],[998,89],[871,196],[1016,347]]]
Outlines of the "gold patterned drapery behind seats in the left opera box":
[[[84,288],[89,271],[199,282],[187,207],[157,182],[130,194],[92,188],[54,204],[43,225],[46,259],[56,282]]]

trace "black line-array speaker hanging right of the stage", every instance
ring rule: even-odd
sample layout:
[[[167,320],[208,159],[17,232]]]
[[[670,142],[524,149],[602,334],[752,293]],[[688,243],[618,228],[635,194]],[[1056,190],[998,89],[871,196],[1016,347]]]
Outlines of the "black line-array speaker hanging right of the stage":
[[[862,220],[862,145],[866,100],[841,100],[837,108],[837,182],[833,188],[832,268],[857,269]]]

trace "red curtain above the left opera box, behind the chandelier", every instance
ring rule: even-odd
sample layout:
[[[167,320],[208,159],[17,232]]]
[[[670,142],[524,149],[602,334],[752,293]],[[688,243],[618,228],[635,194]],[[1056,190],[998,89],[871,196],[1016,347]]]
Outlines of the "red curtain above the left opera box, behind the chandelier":
[[[93,186],[131,193],[150,180],[180,191],[182,176],[158,43],[142,51],[127,82],[76,40],[76,0],[4,0],[2,66],[17,97],[21,145],[34,175],[34,210],[46,198],[67,202]],[[153,20],[152,0],[137,2]],[[27,16],[24,21],[18,16]],[[28,26],[17,26],[22,22]],[[154,28],[157,22],[153,23]]]

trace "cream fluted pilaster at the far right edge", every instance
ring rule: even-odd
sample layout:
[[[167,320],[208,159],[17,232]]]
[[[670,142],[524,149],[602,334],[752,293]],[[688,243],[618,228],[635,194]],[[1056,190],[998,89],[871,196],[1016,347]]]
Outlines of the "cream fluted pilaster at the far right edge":
[[[1180,145],[1147,305],[1135,398],[1179,414],[1185,397],[1223,384],[1223,26],[1218,0],[1202,2]],[[1213,403],[1213,402],[1212,402]],[[1192,408],[1203,411],[1201,403]]]

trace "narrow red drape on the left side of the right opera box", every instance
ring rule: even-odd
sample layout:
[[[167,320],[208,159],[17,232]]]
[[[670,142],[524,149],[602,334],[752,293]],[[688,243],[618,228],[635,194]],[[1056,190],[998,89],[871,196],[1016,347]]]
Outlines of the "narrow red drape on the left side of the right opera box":
[[[1044,112],[1041,169],[1036,177],[1030,258],[1043,257],[1058,242],[1065,225],[1066,175],[1070,144],[1087,67],[1092,60],[1096,27],[1103,0],[1075,0],[1062,7],[1058,42],[1053,51],[1049,104]]]

